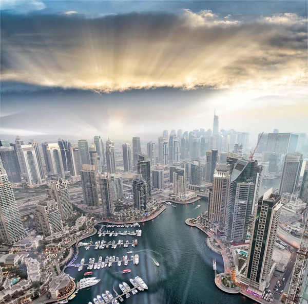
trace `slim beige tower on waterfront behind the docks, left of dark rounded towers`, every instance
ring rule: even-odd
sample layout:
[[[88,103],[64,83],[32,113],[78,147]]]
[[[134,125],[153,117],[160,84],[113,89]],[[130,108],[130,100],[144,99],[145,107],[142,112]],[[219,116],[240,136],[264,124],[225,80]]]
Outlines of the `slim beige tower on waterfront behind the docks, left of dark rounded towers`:
[[[100,189],[101,189],[103,215],[105,217],[109,217],[112,214],[112,188],[111,188],[111,177],[109,172],[100,175]]]

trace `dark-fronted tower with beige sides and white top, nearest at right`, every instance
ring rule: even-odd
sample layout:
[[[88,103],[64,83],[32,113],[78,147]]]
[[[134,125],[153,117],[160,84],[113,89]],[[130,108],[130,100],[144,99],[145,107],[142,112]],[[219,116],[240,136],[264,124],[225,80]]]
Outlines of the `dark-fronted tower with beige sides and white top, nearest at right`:
[[[248,290],[253,292],[258,290],[263,293],[275,271],[272,257],[281,208],[280,196],[273,194],[272,189],[265,192],[258,201],[246,271]]]

